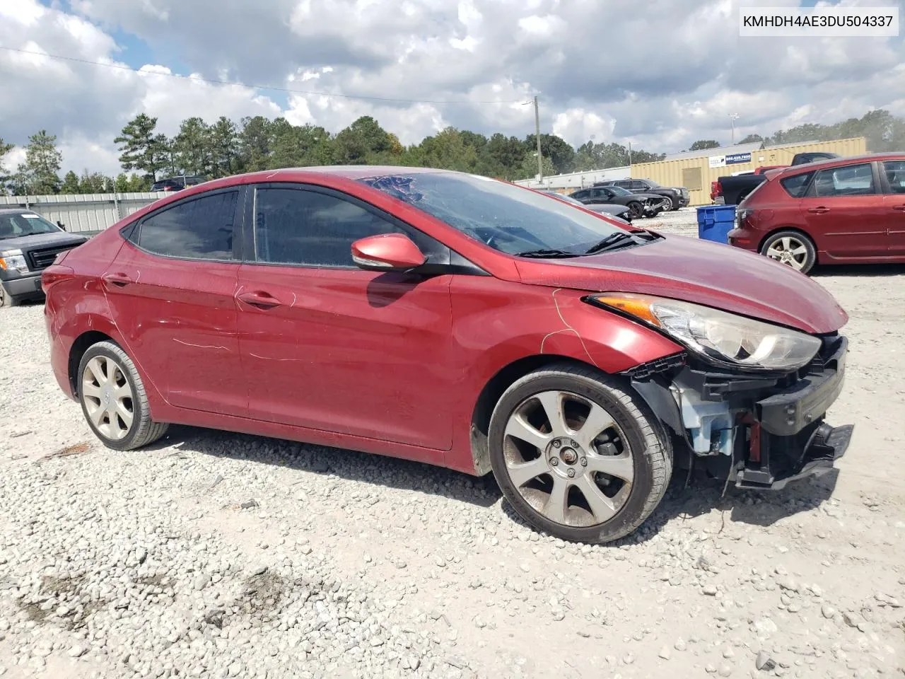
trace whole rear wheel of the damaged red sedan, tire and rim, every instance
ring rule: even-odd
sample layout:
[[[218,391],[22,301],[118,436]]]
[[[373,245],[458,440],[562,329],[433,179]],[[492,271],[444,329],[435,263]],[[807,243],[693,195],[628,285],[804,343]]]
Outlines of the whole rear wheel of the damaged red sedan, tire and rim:
[[[90,346],[77,377],[81,412],[103,445],[134,450],[167,433],[167,424],[151,420],[138,370],[118,345],[103,341]]]

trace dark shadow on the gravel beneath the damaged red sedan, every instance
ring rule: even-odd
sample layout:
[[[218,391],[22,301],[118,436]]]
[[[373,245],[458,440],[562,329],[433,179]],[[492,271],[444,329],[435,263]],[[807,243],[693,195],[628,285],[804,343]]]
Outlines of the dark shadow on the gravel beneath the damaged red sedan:
[[[148,445],[145,450],[163,451],[168,448],[176,449],[173,454],[200,453],[274,464],[298,472],[438,495],[484,508],[496,504],[502,497],[492,474],[474,477],[431,464],[263,436],[173,426],[165,438]],[[724,493],[724,482],[707,478],[702,473],[687,480],[684,472],[677,471],[651,517],[638,531],[610,543],[610,546],[644,542],[674,521],[688,521],[715,511],[724,514],[725,522],[767,527],[798,512],[819,507],[833,495],[837,478],[838,471],[833,469],[819,478],[789,483],[778,492],[738,490],[730,484]],[[502,509],[510,521],[528,527],[509,502],[504,500]]]

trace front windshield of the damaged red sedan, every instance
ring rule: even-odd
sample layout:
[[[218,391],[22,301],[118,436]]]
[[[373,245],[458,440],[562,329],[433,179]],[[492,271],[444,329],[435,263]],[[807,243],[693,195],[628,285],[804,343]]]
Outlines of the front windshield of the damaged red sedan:
[[[502,253],[585,253],[608,235],[625,233],[537,191],[453,172],[418,172],[359,179]]]

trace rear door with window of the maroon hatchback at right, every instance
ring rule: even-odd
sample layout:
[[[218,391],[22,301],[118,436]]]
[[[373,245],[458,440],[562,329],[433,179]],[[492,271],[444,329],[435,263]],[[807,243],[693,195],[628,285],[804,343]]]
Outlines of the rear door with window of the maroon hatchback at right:
[[[875,163],[818,170],[799,208],[817,249],[833,257],[888,253],[883,196]]]

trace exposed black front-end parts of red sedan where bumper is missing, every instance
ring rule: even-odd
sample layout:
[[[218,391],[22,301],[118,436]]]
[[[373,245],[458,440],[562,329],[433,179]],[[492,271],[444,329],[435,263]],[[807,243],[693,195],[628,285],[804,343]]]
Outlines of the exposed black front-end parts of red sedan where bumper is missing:
[[[722,372],[687,354],[626,371],[638,394],[685,444],[691,466],[738,488],[779,490],[833,469],[853,426],[830,426],[842,391],[847,340],[823,338],[810,364],[791,375]]]

